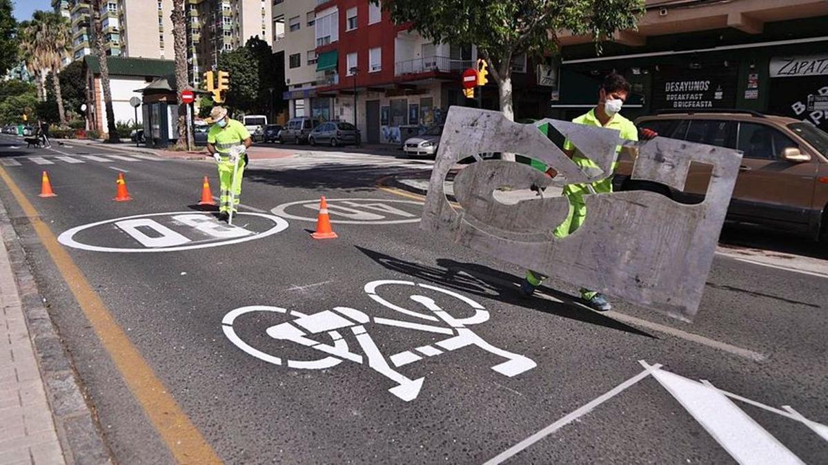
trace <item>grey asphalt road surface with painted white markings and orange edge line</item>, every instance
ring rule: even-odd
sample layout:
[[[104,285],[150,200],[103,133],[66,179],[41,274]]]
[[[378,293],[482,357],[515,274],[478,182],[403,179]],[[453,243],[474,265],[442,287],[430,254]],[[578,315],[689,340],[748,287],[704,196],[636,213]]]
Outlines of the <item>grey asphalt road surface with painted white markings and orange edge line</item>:
[[[417,228],[377,181],[418,162],[253,162],[228,228],[210,162],[20,141],[0,198],[118,463],[828,457],[824,276],[717,256],[692,324],[600,314]]]

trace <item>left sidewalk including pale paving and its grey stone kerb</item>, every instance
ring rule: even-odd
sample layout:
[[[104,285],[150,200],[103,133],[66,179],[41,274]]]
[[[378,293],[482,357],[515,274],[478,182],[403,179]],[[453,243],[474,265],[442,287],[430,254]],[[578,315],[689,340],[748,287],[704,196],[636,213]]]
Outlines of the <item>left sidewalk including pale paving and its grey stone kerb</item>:
[[[112,463],[2,203],[0,239],[0,463]]]

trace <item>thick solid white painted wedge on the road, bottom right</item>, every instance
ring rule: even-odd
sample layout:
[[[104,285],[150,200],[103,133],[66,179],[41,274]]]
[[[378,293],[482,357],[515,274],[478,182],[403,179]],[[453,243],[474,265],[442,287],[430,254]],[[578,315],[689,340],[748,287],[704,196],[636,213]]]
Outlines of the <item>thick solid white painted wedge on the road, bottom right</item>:
[[[656,378],[737,462],[768,465],[802,463],[802,460],[715,386],[663,370],[652,372],[652,377]]]

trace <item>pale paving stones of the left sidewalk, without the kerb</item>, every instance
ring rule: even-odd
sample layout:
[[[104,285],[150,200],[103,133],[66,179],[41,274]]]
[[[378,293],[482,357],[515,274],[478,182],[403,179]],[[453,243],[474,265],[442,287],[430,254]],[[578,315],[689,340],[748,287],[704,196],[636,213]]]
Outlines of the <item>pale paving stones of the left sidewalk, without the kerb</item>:
[[[65,463],[2,241],[0,304],[0,463]]]

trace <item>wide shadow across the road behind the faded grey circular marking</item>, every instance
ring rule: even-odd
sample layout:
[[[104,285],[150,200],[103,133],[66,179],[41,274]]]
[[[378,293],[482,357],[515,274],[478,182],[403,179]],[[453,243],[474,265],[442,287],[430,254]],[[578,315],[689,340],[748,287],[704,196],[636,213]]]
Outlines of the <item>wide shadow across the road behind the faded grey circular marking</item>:
[[[412,173],[412,169],[404,166],[395,168],[324,163],[282,170],[250,167],[244,171],[244,181],[298,189],[345,189],[351,192],[365,192],[376,190],[380,178],[407,173]]]

